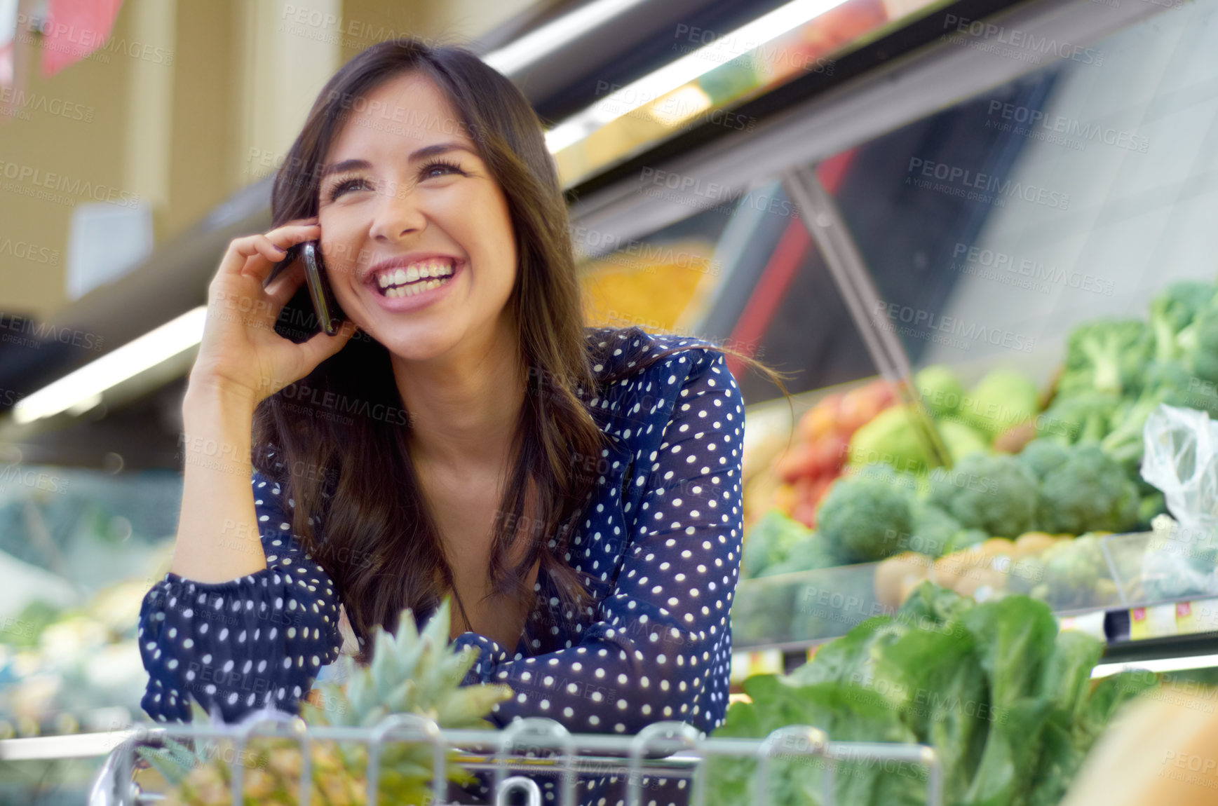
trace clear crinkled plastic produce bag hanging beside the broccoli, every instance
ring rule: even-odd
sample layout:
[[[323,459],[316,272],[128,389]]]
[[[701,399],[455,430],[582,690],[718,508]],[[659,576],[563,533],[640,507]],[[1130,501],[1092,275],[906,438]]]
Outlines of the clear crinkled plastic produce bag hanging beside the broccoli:
[[[1156,527],[1142,556],[1151,600],[1218,593],[1218,422],[1160,404],[1142,430],[1141,476],[1163,493],[1175,524]]]

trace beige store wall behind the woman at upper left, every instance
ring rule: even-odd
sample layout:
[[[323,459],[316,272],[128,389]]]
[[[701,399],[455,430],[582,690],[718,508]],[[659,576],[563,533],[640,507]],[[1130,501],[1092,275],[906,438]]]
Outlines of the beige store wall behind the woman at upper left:
[[[72,208],[93,198],[33,198],[22,191],[37,191],[37,178],[147,200],[161,242],[272,173],[325,80],[368,45],[403,34],[462,44],[529,5],[124,0],[110,45],[50,79],[35,38],[24,49],[26,103],[0,119],[0,312],[46,317],[68,302]],[[85,119],[46,111],[61,105]],[[41,173],[5,179],[13,166]]]

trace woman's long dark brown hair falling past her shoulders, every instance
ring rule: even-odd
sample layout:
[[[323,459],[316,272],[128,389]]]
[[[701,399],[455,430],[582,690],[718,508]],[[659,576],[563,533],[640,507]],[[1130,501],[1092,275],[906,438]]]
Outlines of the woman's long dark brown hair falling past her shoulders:
[[[335,73],[309,111],[275,177],[273,226],[317,214],[319,168],[345,111],[354,99],[410,71],[429,77],[457,111],[507,197],[518,247],[508,306],[519,326],[526,393],[492,526],[492,590],[527,600],[533,590],[525,583],[526,571],[540,561],[557,583],[563,610],[580,612],[587,592],[566,558],[598,482],[594,474],[580,472],[572,457],[599,457],[605,444],[585,404],[596,394],[592,366],[598,357],[592,345],[598,342],[586,338],[566,206],[529,101],[463,47],[432,47],[413,38],[371,45]],[[631,371],[676,349],[685,348],[648,354]],[[256,450],[253,464],[285,486],[292,533],[339,586],[361,642],[361,662],[369,659],[368,637],[375,626],[396,629],[403,608],[423,615],[449,592],[469,628],[410,461],[410,421],[402,405],[389,351],[357,334],[255,412],[255,444],[270,449]],[[354,416],[346,416],[348,412]],[[536,509],[524,517],[526,500]],[[525,522],[540,526],[519,528]],[[518,547],[519,541],[525,545]],[[523,559],[512,564],[519,548]]]

